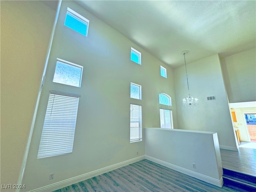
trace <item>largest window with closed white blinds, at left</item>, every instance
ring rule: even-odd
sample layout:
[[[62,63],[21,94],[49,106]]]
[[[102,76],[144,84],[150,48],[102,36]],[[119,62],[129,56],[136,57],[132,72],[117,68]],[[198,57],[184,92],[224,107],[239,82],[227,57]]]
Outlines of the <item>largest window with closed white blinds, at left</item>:
[[[37,158],[73,150],[79,95],[51,91]]]

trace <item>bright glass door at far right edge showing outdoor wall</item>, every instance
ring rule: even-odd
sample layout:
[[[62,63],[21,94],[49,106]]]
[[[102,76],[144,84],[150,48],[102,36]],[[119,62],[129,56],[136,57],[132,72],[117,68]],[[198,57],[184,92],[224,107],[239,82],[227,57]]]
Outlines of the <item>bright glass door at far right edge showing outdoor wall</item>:
[[[246,113],[244,114],[246,120],[246,126],[250,136],[251,142],[256,142],[256,114],[255,113]]]

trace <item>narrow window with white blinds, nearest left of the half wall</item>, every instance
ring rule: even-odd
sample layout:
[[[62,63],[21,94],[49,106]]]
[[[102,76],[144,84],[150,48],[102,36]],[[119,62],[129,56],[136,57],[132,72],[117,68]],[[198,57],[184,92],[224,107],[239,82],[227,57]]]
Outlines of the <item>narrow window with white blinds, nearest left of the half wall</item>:
[[[142,141],[142,111],[140,105],[130,104],[130,143]]]

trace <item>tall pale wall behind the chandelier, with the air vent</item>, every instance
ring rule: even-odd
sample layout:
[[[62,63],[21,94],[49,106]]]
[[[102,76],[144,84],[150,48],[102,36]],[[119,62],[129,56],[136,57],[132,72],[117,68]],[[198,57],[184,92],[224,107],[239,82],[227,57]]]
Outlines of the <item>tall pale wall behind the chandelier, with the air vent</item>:
[[[217,132],[221,148],[237,150],[218,54],[189,63],[190,54],[186,55],[190,95],[199,104],[191,109],[182,105],[188,96],[185,66],[175,68],[178,128]],[[207,100],[208,96],[216,100]]]

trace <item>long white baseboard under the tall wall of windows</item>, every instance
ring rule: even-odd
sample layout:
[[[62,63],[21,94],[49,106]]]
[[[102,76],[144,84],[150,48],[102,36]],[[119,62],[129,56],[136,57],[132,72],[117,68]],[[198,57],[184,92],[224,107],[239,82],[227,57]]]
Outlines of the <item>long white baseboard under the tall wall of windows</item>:
[[[111,165],[111,166],[107,166],[107,167],[104,167],[104,168],[101,168],[101,169],[98,169],[98,170],[95,170],[95,171],[92,171],[92,172],[88,172],[86,174],[82,174],[82,175],[79,175],[79,176],[76,176],[76,177],[73,177],[73,178],[69,178],[69,179],[66,179],[66,180],[63,180],[63,181],[60,181],[60,182],[56,182],[56,183],[53,183],[53,184],[50,184],[50,185],[47,185],[47,186],[44,186],[44,187],[41,187],[41,188],[37,188],[37,189],[31,190],[30,192],[54,191],[54,190],[63,188],[65,186],[69,186],[69,185],[75,184],[77,182],[81,182],[81,181],[84,181],[86,179],[98,176],[100,174],[110,172],[112,170],[118,169],[120,167],[129,165],[129,164],[132,164],[132,163],[135,163],[135,162],[143,160],[143,159],[145,159],[144,155],[133,158],[133,159],[130,159],[130,160],[127,160],[127,161],[124,161],[124,162],[120,162],[120,163],[117,163],[117,164],[114,164],[114,165]]]

